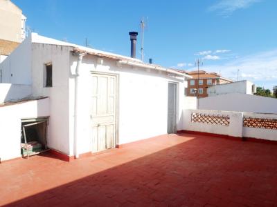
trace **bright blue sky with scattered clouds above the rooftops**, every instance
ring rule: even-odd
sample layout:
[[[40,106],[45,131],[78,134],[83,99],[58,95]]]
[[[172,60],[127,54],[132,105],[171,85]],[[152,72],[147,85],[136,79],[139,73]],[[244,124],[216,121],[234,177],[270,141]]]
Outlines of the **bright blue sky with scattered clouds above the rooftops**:
[[[276,0],[13,0],[27,26],[46,37],[129,56],[129,31],[145,29],[145,59],[184,70],[277,85]],[[139,50],[137,50],[139,57]]]

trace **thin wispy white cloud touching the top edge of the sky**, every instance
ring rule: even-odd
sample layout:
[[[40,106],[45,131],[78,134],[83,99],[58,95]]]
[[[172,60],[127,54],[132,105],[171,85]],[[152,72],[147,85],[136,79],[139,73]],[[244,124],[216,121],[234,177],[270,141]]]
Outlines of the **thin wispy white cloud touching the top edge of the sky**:
[[[262,0],[220,0],[218,3],[210,6],[208,11],[215,11],[222,16],[228,17],[235,12],[235,10],[249,8],[253,3],[259,1]]]

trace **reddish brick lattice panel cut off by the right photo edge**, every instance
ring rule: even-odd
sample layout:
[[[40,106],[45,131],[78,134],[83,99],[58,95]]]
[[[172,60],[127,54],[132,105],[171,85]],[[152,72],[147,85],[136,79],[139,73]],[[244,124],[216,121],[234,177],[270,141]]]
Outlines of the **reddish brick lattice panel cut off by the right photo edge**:
[[[277,119],[244,117],[243,126],[251,128],[266,128],[277,130]]]

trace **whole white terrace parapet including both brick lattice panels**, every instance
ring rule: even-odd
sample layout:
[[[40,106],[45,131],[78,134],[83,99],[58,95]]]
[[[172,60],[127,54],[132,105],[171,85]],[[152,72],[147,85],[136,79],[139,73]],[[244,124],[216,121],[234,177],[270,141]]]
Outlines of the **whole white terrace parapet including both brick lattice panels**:
[[[223,119],[226,121],[222,121],[221,117],[224,117]],[[251,121],[248,121],[247,124],[247,119],[249,118]],[[184,110],[183,130],[277,141],[276,120],[276,114],[220,110]]]

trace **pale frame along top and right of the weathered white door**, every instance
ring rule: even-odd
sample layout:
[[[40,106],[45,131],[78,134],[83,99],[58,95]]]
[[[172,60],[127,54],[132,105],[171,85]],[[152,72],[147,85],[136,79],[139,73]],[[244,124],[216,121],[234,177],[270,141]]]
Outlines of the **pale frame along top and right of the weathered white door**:
[[[119,138],[118,138],[118,135],[119,135],[119,131],[118,131],[118,99],[119,99],[119,75],[118,75],[118,73],[111,73],[111,72],[98,72],[98,71],[93,71],[93,70],[91,70],[90,71],[91,72],[91,75],[93,75],[93,74],[96,74],[96,75],[109,75],[109,76],[114,76],[114,77],[116,77],[116,112],[115,112],[115,116],[116,116],[116,119],[115,119],[115,126],[114,126],[114,130],[115,130],[115,132],[114,132],[114,148],[116,148],[116,146],[118,146],[118,143],[119,143]],[[91,144],[92,145],[92,144]],[[92,146],[91,146],[91,148],[92,148]]]

